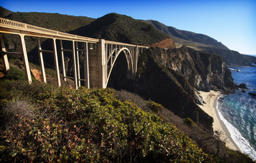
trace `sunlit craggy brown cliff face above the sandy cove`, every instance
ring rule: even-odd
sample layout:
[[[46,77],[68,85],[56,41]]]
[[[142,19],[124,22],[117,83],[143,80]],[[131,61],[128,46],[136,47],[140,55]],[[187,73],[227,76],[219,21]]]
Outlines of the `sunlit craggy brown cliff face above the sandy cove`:
[[[180,49],[156,49],[154,57],[169,71],[180,74],[197,90],[233,88],[233,78],[221,56],[198,52],[182,46]]]

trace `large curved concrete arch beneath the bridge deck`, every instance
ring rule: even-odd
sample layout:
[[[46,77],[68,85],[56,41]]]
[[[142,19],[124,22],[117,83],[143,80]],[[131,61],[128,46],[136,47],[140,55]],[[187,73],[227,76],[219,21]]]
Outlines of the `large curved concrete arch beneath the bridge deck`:
[[[113,50],[113,52],[111,52],[111,56],[114,56],[114,54],[115,54],[115,58],[112,62],[112,65],[111,65],[110,69],[108,70],[108,76],[107,76],[107,79],[106,79],[106,86],[109,83],[109,78],[110,78],[111,72],[113,70],[113,67],[115,65],[115,61],[117,60],[117,57],[119,56],[119,54],[121,54],[122,52],[124,52],[124,55],[126,56],[126,62],[127,62],[126,77],[130,77],[132,75],[132,73],[134,72],[134,67],[133,67],[133,62],[132,62],[132,54],[131,54],[130,50],[128,48],[121,48],[117,52],[115,52],[115,50]]]

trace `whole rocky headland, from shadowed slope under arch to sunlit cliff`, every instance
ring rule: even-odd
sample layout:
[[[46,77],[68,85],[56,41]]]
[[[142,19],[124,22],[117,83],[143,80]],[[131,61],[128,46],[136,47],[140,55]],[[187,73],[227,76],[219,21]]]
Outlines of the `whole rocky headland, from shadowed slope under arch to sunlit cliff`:
[[[233,78],[221,56],[204,54],[185,46],[172,50],[149,48],[139,57],[134,80],[124,79],[126,65],[120,64],[122,60],[125,58],[117,60],[119,64],[113,68],[108,86],[152,99],[176,115],[190,117],[212,131],[212,117],[197,106],[200,103],[197,90],[233,86]]]

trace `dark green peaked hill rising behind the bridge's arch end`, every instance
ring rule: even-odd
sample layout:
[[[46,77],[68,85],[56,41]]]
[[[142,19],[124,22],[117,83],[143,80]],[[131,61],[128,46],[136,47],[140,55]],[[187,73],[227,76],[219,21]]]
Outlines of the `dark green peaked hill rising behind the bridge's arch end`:
[[[102,16],[70,33],[140,45],[153,44],[169,37],[151,24],[115,13]]]

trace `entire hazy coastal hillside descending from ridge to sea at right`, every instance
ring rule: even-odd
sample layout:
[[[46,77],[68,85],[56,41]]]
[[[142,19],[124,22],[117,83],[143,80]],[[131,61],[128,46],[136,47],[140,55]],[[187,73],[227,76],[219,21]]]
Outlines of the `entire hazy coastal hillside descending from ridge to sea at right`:
[[[193,33],[190,31],[175,29],[173,26],[166,26],[165,24],[155,20],[142,21],[154,25],[163,33],[169,35],[169,37],[175,41],[177,47],[186,45],[189,48],[193,48],[195,50],[202,50],[204,52],[210,52],[212,54],[223,56],[227,65],[251,65],[250,60],[247,60],[246,57],[244,57],[242,54],[233,50],[229,50],[226,46],[223,45],[223,43],[218,42],[212,37],[199,33]]]

